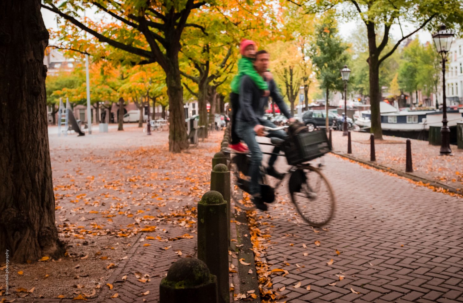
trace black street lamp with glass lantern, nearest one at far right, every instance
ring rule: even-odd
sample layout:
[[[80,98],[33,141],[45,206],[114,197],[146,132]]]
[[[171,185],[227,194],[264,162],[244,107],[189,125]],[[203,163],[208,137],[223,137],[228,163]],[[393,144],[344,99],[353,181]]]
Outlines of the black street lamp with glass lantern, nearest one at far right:
[[[445,100],[445,61],[447,61],[447,54],[450,50],[450,45],[452,44],[453,36],[454,34],[452,32],[447,31],[445,29],[445,25],[441,25],[440,31],[432,35],[432,39],[434,40],[436,49],[442,57],[442,87],[444,90],[442,93],[442,127],[440,129],[440,133],[442,136],[442,143],[440,146],[441,155],[451,155],[452,153],[452,151],[450,150],[450,128],[449,126],[447,126],[447,101]]]

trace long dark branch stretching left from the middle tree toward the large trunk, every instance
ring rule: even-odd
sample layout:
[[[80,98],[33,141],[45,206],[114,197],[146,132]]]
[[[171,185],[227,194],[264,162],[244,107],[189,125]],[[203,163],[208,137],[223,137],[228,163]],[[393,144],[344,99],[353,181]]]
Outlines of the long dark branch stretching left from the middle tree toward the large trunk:
[[[70,17],[68,16],[67,14],[61,12],[56,6],[50,4],[50,6],[46,6],[44,4],[40,4],[40,6],[42,6],[43,8],[46,8],[48,9],[50,12],[53,12],[53,13],[56,13],[58,15],[60,15],[61,17],[63,17],[64,19],[66,20],[69,20],[72,24],[76,25],[77,27],[81,28],[82,30],[84,30],[85,32],[88,32],[89,34],[93,35],[95,38],[97,38],[100,42],[106,42],[107,44],[115,47],[115,48],[119,48],[121,50],[125,50],[131,54],[134,54],[134,55],[138,55],[140,57],[145,57],[145,58],[148,58],[148,59],[151,59],[153,60],[153,57],[152,57],[152,54],[147,51],[147,50],[144,50],[144,49],[141,49],[141,48],[138,48],[138,47],[133,47],[133,46],[130,46],[130,45],[127,45],[127,44],[124,44],[124,43],[121,43],[121,42],[118,42],[118,41],[114,41],[113,39],[111,38],[108,38],[106,36],[103,36],[102,34],[100,34],[99,32],[96,32],[90,28],[88,28],[87,26],[83,25],[81,22],[77,21],[76,19],[74,19],[73,17]],[[155,62],[155,60],[153,60],[153,62]]]

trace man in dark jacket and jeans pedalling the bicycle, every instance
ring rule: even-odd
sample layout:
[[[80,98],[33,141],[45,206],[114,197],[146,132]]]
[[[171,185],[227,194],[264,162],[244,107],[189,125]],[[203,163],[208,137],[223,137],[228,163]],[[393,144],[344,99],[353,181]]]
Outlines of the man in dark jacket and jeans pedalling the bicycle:
[[[265,50],[260,50],[256,53],[254,67],[264,79],[264,73],[269,67],[269,57],[269,53]],[[270,96],[273,101],[275,101],[276,105],[280,108],[281,113],[284,114],[290,122],[294,122],[295,119],[289,114],[288,108],[276,88],[275,81],[270,80],[268,83]],[[259,179],[261,177],[260,166],[262,165],[262,151],[257,143],[256,135],[264,136],[265,126],[276,127],[269,120],[263,119],[264,107],[268,104],[268,99],[269,97],[263,96],[262,91],[257,88],[256,84],[249,76],[245,75],[241,78],[236,130],[241,139],[248,145],[251,153],[249,194],[252,196],[252,202],[261,210],[267,210],[267,205],[262,201],[261,186],[259,184]],[[285,139],[287,135],[284,131],[278,130],[269,131],[269,137]],[[276,154],[279,152],[280,148],[275,146],[272,152],[273,154],[269,159],[269,166],[266,169],[266,173],[275,178],[282,178],[282,174],[273,167],[277,158]]]

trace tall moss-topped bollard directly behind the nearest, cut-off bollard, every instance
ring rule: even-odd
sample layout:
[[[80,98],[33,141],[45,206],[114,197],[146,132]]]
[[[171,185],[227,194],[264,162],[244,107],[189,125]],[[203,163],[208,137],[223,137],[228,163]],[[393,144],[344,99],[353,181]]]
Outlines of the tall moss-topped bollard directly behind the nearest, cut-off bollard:
[[[217,277],[220,303],[230,301],[227,220],[227,203],[222,195],[218,191],[206,192],[198,202],[198,259]]]

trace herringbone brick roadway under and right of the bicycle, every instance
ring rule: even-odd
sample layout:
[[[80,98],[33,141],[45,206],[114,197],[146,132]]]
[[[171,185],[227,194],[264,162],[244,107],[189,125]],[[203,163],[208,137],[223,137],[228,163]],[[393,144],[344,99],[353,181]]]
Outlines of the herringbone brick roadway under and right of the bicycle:
[[[270,224],[261,227],[271,235],[267,262],[289,272],[272,275],[274,289],[286,287],[278,302],[463,302],[463,200],[333,155],[324,161],[337,198],[327,230],[305,224],[284,187],[259,220]]]

